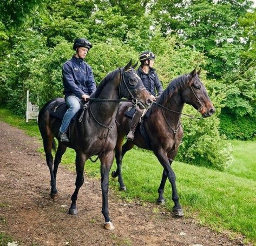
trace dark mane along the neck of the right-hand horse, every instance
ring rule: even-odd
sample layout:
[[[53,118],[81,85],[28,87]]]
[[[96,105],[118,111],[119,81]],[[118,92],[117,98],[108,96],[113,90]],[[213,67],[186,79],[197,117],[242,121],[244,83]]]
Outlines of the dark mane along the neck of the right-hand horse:
[[[169,98],[172,97],[174,93],[179,91],[181,88],[187,86],[187,84],[191,80],[190,78],[191,76],[189,76],[189,74],[183,74],[178,78],[172,80],[165,89],[165,91],[163,91],[163,93],[157,99],[156,103],[165,105],[167,103],[167,100],[169,100]]]

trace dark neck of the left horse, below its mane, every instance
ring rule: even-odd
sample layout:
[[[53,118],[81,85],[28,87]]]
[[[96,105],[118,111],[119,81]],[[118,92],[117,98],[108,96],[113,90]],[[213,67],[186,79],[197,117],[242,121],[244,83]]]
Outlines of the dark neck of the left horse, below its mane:
[[[119,79],[113,79],[109,81],[102,88],[99,96],[97,98],[100,99],[120,99],[119,97]],[[119,103],[117,102],[91,102],[90,107],[94,116],[102,122],[102,124],[110,124],[113,119],[115,119],[115,115],[117,113]]]

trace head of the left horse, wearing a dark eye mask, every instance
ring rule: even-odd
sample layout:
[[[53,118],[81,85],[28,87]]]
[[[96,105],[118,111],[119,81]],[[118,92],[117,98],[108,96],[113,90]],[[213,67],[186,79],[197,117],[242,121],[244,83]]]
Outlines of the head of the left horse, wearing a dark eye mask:
[[[138,100],[140,108],[148,108],[153,100],[142,83],[141,78],[134,70],[137,63],[132,66],[132,59],[121,69],[121,80],[119,85],[120,98]]]

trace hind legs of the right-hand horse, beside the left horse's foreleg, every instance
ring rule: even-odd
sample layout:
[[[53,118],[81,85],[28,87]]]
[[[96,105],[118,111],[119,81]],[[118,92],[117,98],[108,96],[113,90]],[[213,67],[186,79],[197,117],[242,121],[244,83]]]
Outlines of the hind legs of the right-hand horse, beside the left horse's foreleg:
[[[118,182],[119,182],[119,190],[126,190],[126,186],[123,182],[122,177],[122,160],[124,154],[126,154],[127,151],[133,148],[134,144],[132,141],[127,141],[122,146],[123,138],[119,141],[117,141],[116,148],[115,148],[115,159],[116,159],[116,172],[112,172],[112,177],[118,176]]]

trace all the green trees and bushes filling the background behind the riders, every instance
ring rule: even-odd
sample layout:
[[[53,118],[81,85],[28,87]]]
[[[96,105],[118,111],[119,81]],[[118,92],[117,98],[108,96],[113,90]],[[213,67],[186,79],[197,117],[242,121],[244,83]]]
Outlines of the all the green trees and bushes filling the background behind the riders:
[[[126,0],[60,0],[39,4],[34,0],[27,5],[21,1],[1,4],[0,12],[8,4],[16,4],[14,12],[21,7],[17,15],[21,22],[13,19],[17,29],[12,20],[0,19],[0,101],[17,114],[24,115],[27,90],[32,103],[40,106],[63,96],[61,68],[74,53],[74,38],[81,36],[93,43],[86,61],[97,84],[108,72],[131,58],[135,63],[140,52],[151,50],[164,88],[180,74],[202,67],[201,78],[218,115],[223,108],[221,114],[232,112],[235,117],[255,119],[255,16],[245,14],[250,1],[132,0],[128,4]],[[240,42],[241,36],[245,40],[248,36],[250,44]],[[184,123],[180,149],[186,155],[180,155],[180,160],[219,169],[230,165],[231,149],[218,132],[218,118],[193,124],[184,119]]]

